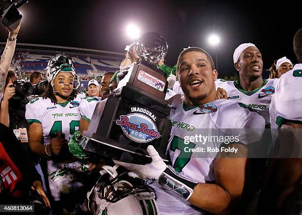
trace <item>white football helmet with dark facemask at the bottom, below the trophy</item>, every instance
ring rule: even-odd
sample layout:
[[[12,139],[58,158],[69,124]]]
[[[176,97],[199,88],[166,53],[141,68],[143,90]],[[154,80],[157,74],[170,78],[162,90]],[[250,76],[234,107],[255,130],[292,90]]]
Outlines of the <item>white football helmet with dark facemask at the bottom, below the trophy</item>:
[[[93,215],[159,214],[155,190],[151,186],[129,177],[128,171],[113,178],[114,170],[106,169],[100,171],[102,176],[87,193],[88,207]]]

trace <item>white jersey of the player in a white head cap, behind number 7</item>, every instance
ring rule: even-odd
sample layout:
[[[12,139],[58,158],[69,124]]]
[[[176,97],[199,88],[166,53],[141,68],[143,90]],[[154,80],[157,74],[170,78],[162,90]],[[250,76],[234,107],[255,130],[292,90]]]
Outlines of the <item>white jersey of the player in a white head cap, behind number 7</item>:
[[[240,86],[240,81],[225,81],[218,79],[217,88],[223,88],[227,92],[227,98],[241,102],[257,110],[264,117],[265,123],[269,124],[269,105],[278,79],[265,79],[263,85],[254,91],[245,91]]]

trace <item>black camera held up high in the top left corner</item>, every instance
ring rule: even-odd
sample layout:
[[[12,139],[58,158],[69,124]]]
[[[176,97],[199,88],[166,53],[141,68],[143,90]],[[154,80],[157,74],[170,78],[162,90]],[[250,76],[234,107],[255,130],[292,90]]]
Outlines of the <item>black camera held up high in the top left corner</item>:
[[[27,2],[28,0],[0,0],[0,18],[3,25],[11,31],[15,29],[22,18],[17,8]]]

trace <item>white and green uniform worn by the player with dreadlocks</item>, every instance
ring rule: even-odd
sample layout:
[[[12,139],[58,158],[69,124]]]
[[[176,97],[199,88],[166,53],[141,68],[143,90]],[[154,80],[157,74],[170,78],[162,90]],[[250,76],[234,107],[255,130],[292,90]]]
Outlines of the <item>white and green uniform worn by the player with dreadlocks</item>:
[[[79,129],[78,106],[80,100],[80,97],[77,96],[73,101],[54,104],[49,98],[37,97],[26,105],[25,117],[27,121],[42,125],[44,145],[49,144],[51,138],[56,137],[60,131],[69,142],[72,134]],[[47,173],[52,173],[51,177],[48,176],[49,187],[54,200],[59,201],[61,193],[72,193],[82,184],[77,181],[73,174],[69,174],[69,171],[64,168],[64,164],[51,158],[47,160]],[[68,165],[74,166],[77,165],[77,162]]]

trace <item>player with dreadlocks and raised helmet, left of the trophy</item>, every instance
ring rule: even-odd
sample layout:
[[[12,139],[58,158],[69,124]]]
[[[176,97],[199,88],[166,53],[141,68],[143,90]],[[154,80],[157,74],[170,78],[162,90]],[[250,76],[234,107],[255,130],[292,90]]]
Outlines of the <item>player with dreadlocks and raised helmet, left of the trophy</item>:
[[[58,54],[46,67],[47,90],[26,106],[26,119],[30,123],[29,146],[40,157],[47,158],[49,188],[53,197],[53,212],[63,208],[74,211],[75,204],[84,197],[83,183],[92,164],[83,164],[69,152],[68,140],[79,129],[79,82],[74,60]],[[90,168],[89,170],[91,170]],[[64,207],[60,200],[68,198]]]

